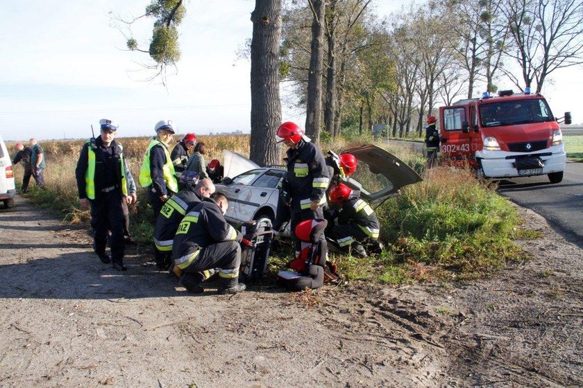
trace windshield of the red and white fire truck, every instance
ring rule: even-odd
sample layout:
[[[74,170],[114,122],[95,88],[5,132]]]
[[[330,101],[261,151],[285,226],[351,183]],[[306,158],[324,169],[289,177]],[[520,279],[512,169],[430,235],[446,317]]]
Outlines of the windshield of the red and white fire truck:
[[[482,127],[555,121],[545,100],[511,100],[480,105]]]

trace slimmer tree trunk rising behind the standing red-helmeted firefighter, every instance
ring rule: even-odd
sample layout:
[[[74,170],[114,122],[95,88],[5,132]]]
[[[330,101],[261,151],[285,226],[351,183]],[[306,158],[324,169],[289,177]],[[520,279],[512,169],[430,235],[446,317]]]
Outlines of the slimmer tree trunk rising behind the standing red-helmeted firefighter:
[[[320,141],[322,123],[322,63],[324,53],[322,24],[326,2],[324,0],[310,0],[310,3],[313,6],[314,19],[312,21],[310,73],[307,77],[305,132],[317,143]]]

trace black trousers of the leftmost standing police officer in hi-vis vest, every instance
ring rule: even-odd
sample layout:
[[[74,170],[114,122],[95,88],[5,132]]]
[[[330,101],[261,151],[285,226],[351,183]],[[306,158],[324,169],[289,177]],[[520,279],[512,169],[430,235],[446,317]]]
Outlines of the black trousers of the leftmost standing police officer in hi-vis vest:
[[[95,241],[95,252],[105,253],[108,241],[108,230],[111,231],[111,260],[121,263],[124,259],[124,210],[121,207],[121,193],[112,190],[108,193],[97,193],[91,203],[91,227]]]

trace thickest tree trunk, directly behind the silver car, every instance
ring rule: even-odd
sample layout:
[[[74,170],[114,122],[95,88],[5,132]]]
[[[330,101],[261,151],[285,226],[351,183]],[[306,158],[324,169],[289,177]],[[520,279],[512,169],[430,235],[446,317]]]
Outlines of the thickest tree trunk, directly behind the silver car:
[[[256,0],[251,13],[251,146],[260,166],[280,163],[276,128],[281,124],[279,45],[281,0]]]

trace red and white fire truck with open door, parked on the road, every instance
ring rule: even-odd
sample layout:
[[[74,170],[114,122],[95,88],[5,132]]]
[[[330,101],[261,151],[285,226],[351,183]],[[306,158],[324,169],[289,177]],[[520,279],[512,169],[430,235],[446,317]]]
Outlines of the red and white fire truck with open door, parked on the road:
[[[566,153],[560,120],[541,94],[504,90],[439,108],[440,152],[446,164],[468,164],[478,177],[548,175],[563,179]]]

